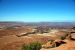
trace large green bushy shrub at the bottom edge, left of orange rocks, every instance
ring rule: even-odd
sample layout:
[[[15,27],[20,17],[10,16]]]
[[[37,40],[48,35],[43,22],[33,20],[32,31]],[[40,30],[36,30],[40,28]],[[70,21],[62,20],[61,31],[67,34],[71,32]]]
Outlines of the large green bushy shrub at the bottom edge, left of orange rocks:
[[[41,49],[41,44],[36,42],[36,43],[31,43],[29,45],[23,45],[22,50],[40,50]]]

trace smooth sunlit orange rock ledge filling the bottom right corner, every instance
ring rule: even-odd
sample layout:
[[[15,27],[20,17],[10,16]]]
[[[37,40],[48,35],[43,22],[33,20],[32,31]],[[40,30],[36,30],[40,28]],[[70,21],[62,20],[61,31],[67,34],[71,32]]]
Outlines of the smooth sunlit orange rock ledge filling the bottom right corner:
[[[60,45],[59,47],[55,48],[41,48],[41,50],[75,50],[75,41],[68,41],[64,40],[65,44]]]

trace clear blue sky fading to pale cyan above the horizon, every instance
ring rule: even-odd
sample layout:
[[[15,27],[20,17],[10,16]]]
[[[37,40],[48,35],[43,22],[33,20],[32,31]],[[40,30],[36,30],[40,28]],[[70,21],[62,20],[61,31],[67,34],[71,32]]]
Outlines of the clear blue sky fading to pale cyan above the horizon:
[[[75,0],[0,0],[0,21],[75,21]]]

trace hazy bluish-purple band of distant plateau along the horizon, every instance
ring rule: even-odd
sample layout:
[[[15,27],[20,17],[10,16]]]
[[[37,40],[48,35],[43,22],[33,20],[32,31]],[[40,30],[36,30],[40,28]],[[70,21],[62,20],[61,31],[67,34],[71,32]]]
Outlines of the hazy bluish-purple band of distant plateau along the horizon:
[[[75,22],[0,22],[1,26],[49,26],[54,28],[72,28]]]

